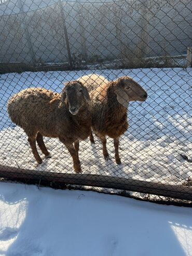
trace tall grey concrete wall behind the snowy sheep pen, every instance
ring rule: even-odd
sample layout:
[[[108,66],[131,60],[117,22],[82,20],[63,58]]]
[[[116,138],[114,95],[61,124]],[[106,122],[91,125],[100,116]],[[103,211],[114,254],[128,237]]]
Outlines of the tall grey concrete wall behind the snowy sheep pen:
[[[115,59],[130,51],[145,57],[180,55],[191,46],[190,0],[81,0],[62,2],[62,8],[57,0],[46,2],[0,4],[1,62],[67,61],[62,15],[76,57]]]

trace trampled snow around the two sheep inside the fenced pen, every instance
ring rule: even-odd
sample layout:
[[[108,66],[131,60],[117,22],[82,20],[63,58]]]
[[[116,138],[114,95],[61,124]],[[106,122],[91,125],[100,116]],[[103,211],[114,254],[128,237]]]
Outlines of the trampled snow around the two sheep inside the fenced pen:
[[[109,80],[133,77],[148,93],[146,102],[131,102],[129,128],[120,140],[122,165],[114,159],[112,140],[107,148],[111,160],[105,161],[101,144],[96,140],[80,142],[79,158],[83,173],[181,184],[192,178],[191,163],[181,154],[192,157],[192,69],[133,69],[103,71],[24,72],[0,75],[0,164],[21,168],[73,172],[72,158],[57,139],[46,138],[52,158],[38,165],[22,129],[8,118],[8,98],[28,87],[44,87],[61,92],[62,83],[85,74],[97,73]],[[40,153],[40,150],[38,150]],[[42,158],[44,156],[42,155]],[[50,254],[51,255],[51,254]]]

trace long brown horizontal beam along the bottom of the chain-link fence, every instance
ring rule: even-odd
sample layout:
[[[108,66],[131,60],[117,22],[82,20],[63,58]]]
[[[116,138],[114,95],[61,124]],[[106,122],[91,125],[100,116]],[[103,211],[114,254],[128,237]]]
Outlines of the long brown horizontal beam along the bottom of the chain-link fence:
[[[114,188],[118,190],[134,191],[154,194],[165,197],[173,197],[182,200],[192,200],[192,188],[183,185],[169,185],[140,181],[98,174],[76,174],[49,171],[26,170],[0,165],[0,177],[11,179],[39,180],[46,182],[58,182],[62,184],[86,185],[95,187]]]

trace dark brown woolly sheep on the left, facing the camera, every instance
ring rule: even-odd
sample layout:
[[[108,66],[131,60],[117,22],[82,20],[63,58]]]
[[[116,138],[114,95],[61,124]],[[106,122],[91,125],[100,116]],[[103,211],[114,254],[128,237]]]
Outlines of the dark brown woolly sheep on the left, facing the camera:
[[[68,82],[59,93],[44,88],[28,88],[8,101],[8,114],[13,123],[28,135],[33,155],[41,164],[36,141],[46,157],[50,154],[43,136],[59,138],[73,158],[75,172],[81,172],[78,156],[79,141],[91,132],[90,96],[80,82]],[[74,144],[73,144],[74,143]]]

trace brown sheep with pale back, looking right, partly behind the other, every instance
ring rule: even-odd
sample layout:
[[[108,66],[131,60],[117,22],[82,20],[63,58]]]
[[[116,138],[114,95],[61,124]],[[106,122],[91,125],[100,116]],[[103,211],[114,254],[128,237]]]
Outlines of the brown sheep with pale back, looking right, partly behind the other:
[[[106,136],[114,139],[115,160],[119,165],[119,138],[128,129],[127,108],[130,101],[145,101],[146,91],[131,77],[124,76],[109,82],[97,74],[77,79],[87,87],[91,97],[91,127],[103,146],[103,156],[109,159],[106,148]],[[90,141],[94,143],[92,132]]]

